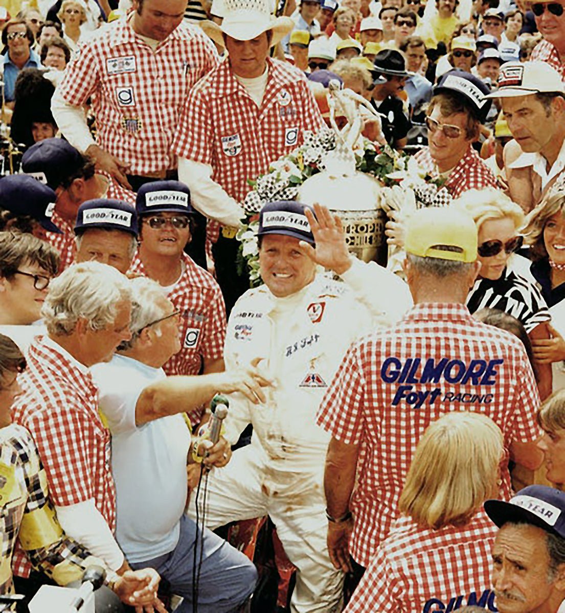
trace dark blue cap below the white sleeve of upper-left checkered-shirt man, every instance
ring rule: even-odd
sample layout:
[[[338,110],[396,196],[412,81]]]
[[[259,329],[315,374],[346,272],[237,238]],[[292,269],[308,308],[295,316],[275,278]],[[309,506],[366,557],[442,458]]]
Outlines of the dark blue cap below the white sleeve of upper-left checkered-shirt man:
[[[40,140],[23,154],[21,169],[51,189],[57,189],[85,164],[85,157],[63,139]]]

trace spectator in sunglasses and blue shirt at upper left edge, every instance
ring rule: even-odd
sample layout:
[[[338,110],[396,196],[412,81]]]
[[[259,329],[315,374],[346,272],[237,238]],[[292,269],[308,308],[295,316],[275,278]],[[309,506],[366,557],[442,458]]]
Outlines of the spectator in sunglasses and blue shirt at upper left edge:
[[[2,29],[2,43],[8,48],[2,56],[4,67],[4,100],[13,109],[16,78],[24,68],[38,68],[41,60],[31,48],[35,39],[25,21],[8,21]]]

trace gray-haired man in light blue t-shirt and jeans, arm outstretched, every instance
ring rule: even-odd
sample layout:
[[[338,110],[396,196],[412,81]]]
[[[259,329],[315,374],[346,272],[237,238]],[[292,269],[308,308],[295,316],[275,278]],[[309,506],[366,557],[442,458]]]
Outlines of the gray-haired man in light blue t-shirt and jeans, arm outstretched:
[[[258,402],[259,377],[237,369],[167,378],[162,367],[180,349],[180,313],[156,281],[136,278],[131,290],[131,339],[110,362],[91,368],[112,433],[116,539],[133,568],[155,568],[183,597],[177,613],[193,606],[202,613],[236,611],[255,587],[255,566],[210,530],[199,535],[184,514],[186,458],[193,462],[193,457],[180,413],[209,402],[217,390],[243,392]],[[209,453],[204,460],[209,466],[224,466],[231,456],[223,438]],[[202,565],[194,603],[194,557],[187,552],[197,546]]]

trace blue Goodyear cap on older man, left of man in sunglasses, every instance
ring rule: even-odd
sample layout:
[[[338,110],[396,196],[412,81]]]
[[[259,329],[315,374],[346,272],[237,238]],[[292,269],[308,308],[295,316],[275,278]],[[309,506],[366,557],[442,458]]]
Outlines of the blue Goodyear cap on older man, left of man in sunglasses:
[[[96,198],[86,200],[79,207],[75,234],[82,234],[91,228],[106,228],[107,230],[122,230],[137,236],[136,210],[127,202]]]

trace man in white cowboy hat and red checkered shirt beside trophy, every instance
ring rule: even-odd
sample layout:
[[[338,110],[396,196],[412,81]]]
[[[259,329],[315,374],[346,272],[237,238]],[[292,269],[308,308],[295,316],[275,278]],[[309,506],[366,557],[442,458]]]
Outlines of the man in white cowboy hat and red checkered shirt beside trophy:
[[[264,0],[225,0],[221,25],[201,27],[229,55],[188,94],[172,144],[194,208],[223,224],[209,229],[219,234],[212,254],[228,313],[248,289],[235,238],[248,181],[325,125],[304,73],[269,57],[293,26],[290,17],[272,17]]]

